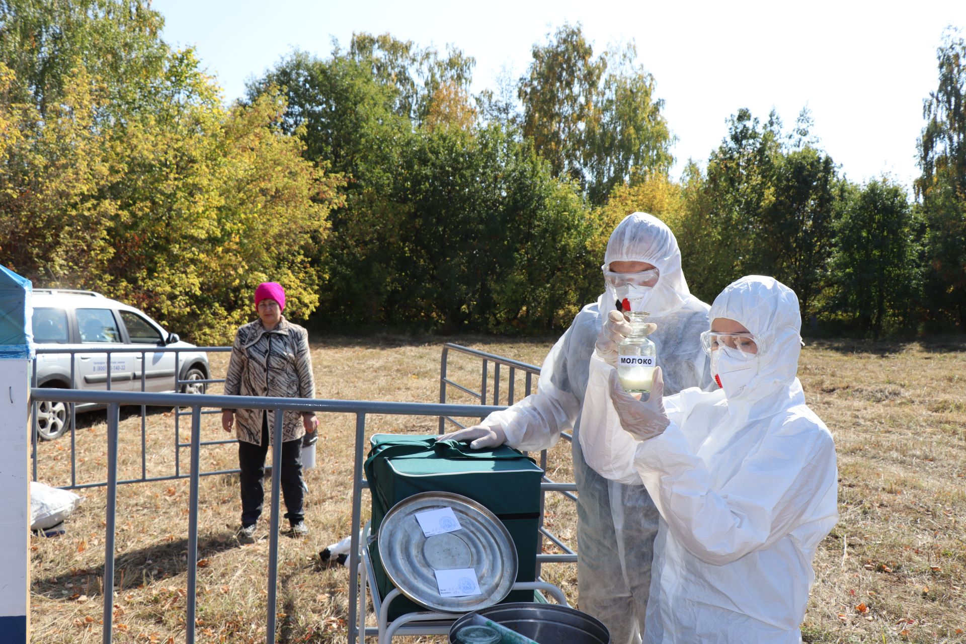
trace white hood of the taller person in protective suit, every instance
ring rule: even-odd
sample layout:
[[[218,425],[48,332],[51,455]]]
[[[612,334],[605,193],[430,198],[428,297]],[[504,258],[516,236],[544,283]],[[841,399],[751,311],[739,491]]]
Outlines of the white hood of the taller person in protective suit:
[[[658,283],[651,290],[645,308],[651,318],[662,318],[684,305],[691,295],[681,270],[681,250],[668,225],[646,212],[633,212],[617,224],[607,242],[604,264],[611,262],[647,262],[659,272]],[[601,313],[607,315],[614,303],[603,295]]]

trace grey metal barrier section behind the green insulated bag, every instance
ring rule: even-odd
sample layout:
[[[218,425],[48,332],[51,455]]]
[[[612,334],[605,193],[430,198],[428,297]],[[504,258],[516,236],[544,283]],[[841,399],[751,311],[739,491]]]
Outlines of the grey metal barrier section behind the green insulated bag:
[[[480,390],[478,392],[472,391],[468,387],[465,387],[457,382],[454,382],[448,377],[448,367],[449,367],[449,353],[462,353],[465,355],[471,355],[482,359],[483,364],[481,368],[481,381]],[[511,406],[516,402],[514,397],[515,385],[517,379],[517,371],[521,371],[526,374],[526,394],[529,396],[533,393],[533,376],[540,376],[540,367],[535,365],[526,364],[526,362],[520,362],[518,360],[511,360],[509,358],[503,357],[502,355],[497,355],[495,353],[487,353],[486,351],[481,351],[477,349],[470,349],[469,347],[463,347],[462,345],[456,345],[451,342],[447,342],[442,347],[442,356],[440,357],[440,405],[446,403],[446,387],[452,386],[456,387],[460,391],[469,394],[470,396],[479,399],[480,405],[486,405],[487,400],[487,384],[488,384],[488,368],[487,365],[493,362],[493,405],[499,405],[499,368],[500,366],[509,367],[510,373],[508,376],[507,384],[507,395],[506,395],[506,405]],[[481,420],[483,416],[480,417]],[[459,428],[464,428],[465,426],[456,422],[452,418],[440,416],[440,434],[445,434],[445,424],[449,421]],[[567,442],[573,441],[573,435],[567,432],[560,434],[563,436],[564,440]],[[549,539],[554,546],[563,550],[564,554],[559,555],[538,555],[537,556],[537,578],[540,578],[540,565],[542,562],[557,562],[557,563],[577,563],[577,552],[566,546],[556,535],[551,533],[544,527],[544,507],[546,504],[546,497],[548,491],[556,491],[563,494],[565,497],[569,498],[571,501],[577,502],[577,496],[574,494],[577,491],[577,485],[574,483],[559,483],[551,480],[547,476],[547,450],[540,452],[540,467],[544,470],[543,483],[540,486],[540,543],[538,545],[537,552],[543,552],[544,538]]]

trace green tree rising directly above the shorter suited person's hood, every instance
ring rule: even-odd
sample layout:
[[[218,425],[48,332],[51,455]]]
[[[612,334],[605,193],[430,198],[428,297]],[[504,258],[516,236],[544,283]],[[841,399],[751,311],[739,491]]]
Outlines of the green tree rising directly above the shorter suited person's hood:
[[[783,132],[773,111],[762,125],[741,109],[728,122],[728,135],[711,154],[699,199],[703,221],[714,239],[708,264],[720,271],[709,284],[720,291],[747,274],[773,275],[798,294],[804,315],[814,313],[826,286],[835,229],[836,165],[816,147],[808,110]],[[712,289],[714,291],[714,289]]]

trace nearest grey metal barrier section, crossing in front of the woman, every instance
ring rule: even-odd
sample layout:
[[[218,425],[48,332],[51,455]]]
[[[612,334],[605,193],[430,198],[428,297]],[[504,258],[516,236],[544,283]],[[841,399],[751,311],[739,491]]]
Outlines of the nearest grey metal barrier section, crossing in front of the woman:
[[[185,640],[195,642],[195,615],[197,609],[198,574],[198,488],[200,480],[199,461],[201,440],[202,407],[228,407],[246,409],[268,409],[274,411],[272,428],[272,462],[281,462],[282,411],[315,411],[316,413],[354,413],[355,414],[355,476],[353,481],[353,545],[350,556],[350,571],[355,575],[358,570],[358,527],[361,522],[361,504],[358,502],[361,490],[368,488],[367,482],[359,475],[362,470],[362,451],[365,441],[367,415],[415,415],[472,417],[481,412],[490,413],[497,406],[476,405],[438,405],[433,403],[384,403],[371,401],[331,401],[299,398],[258,398],[251,396],[212,396],[207,394],[165,394],[125,391],[78,391],[73,389],[32,388],[31,397],[37,401],[65,401],[72,404],[95,403],[107,406],[107,517],[104,537],[104,606],[103,606],[103,644],[110,644],[113,630],[113,588],[114,588],[114,550],[117,517],[118,481],[118,425],[119,409],[123,405],[182,406],[191,409],[190,479],[188,508],[188,551],[187,551],[187,614],[185,619]],[[278,581],[278,524],[279,490],[281,488],[281,467],[271,468],[271,527],[269,543],[268,572],[268,619],[267,644],[275,641],[276,599]],[[355,605],[357,588],[350,583],[349,620],[350,641],[356,634]]]

